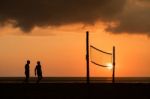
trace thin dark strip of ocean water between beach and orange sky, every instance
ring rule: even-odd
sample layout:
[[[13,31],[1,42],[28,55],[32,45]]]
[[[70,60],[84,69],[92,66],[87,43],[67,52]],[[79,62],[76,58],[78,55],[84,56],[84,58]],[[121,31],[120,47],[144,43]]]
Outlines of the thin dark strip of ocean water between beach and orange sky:
[[[0,77],[0,83],[23,83],[24,77]],[[29,83],[36,83],[31,77]],[[86,83],[86,77],[44,77],[40,83]],[[112,83],[111,77],[91,77],[90,83]],[[116,77],[115,83],[150,83],[150,77]]]

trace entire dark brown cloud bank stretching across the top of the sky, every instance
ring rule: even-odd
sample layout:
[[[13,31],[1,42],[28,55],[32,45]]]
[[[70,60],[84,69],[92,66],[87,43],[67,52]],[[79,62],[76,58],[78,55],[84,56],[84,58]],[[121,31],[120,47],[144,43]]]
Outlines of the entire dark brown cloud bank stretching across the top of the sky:
[[[112,33],[150,34],[150,0],[0,0],[0,26],[34,27],[73,23],[108,25]]]

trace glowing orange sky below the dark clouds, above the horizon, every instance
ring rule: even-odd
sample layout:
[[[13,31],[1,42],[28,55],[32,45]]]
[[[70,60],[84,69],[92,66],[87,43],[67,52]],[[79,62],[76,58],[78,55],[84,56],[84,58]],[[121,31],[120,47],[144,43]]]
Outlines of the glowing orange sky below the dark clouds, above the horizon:
[[[111,34],[105,26],[72,24],[35,28],[22,33],[18,28],[0,28],[0,76],[24,76],[26,60],[31,60],[31,76],[40,60],[44,76],[86,76],[85,32],[90,44],[111,52],[116,46],[116,76],[150,76],[150,39],[145,35]],[[42,35],[41,35],[42,33]],[[91,76],[110,76],[111,70],[90,63]]]

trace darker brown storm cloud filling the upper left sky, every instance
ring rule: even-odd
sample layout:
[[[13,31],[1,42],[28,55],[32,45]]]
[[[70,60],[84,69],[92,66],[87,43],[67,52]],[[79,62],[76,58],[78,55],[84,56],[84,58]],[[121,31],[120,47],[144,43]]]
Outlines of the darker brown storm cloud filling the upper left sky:
[[[126,0],[0,0],[0,24],[12,23],[25,32],[35,26],[113,21]]]

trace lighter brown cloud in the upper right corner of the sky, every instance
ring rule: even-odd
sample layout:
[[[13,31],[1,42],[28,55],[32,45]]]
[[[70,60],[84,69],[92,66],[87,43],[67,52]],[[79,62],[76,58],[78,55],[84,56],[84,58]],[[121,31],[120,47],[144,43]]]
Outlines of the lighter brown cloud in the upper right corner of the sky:
[[[106,29],[113,33],[150,35],[150,0],[128,0],[118,24]]]

